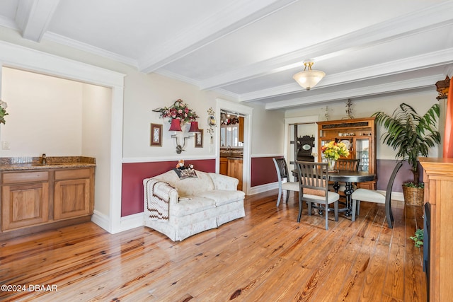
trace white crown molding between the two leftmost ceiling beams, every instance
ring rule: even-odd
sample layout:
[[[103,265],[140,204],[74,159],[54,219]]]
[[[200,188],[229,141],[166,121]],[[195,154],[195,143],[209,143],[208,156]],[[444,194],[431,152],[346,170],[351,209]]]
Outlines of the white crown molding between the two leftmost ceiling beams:
[[[130,66],[134,66],[135,68],[138,68],[138,62],[135,59],[131,59],[130,57],[125,57],[122,56],[121,54],[117,54],[115,52],[109,52],[108,50],[103,50],[102,48],[99,47],[94,47],[92,45],[79,42],[77,40],[70,39],[69,37],[64,37],[62,35],[58,35],[56,33],[48,31],[47,33],[44,34],[43,37],[45,40],[49,40],[52,42],[56,42],[62,45],[66,45],[69,47],[73,47],[77,50],[82,50],[84,52],[89,52],[91,54],[96,54],[101,57],[105,57],[107,59],[112,59],[113,61],[116,62],[121,62]]]

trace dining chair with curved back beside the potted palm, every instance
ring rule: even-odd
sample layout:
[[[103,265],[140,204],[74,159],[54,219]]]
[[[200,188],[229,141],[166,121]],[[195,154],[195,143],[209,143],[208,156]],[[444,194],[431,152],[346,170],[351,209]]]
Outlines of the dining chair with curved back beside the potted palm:
[[[352,192],[352,221],[355,221],[355,214],[357,209],[357,216],[360,215],[360,202],[375,202],[377,204],[385,204],[385,216],[389,228],[393,228],[394,214],[391,211],[391,189],[394,186],[396,173],[401,168],[403,163],[399,161],[396,163],[393,172],[390,175],[389,182],[385,193],[377,192],[368,189],[357,189]]]

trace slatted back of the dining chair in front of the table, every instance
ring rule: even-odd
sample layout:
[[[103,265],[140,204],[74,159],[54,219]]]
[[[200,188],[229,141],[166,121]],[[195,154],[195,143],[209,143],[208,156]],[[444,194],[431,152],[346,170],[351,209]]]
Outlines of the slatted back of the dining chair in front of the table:
[[[302,189],[322,190],[327,194],[328,163],[296,161],[296,166]]]

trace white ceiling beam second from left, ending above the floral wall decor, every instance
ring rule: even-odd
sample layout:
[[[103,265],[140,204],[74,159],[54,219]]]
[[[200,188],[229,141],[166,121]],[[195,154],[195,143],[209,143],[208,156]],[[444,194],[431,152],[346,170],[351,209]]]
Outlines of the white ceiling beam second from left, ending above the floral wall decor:
[[[152,72],[191,52],[234,33],[246,25],[296,2],[297,0],[229,1],[229,6],[190,28],[181,31],[163,45],[153,45],[139,59],[139,70]]]

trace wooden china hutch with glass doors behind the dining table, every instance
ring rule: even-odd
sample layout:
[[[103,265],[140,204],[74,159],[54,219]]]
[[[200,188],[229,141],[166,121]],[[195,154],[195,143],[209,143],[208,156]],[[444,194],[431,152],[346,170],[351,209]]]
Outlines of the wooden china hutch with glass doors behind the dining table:
[[[374,117],[351,120],[333,120],[318,124],[318,161],[322,161],[321,148],[329,141],[342,141],[349,146],[348,158],[358,158],[359,170],[377,174],[376,131]],[[376,180],[360,182],[357,187],[376,190]]]

